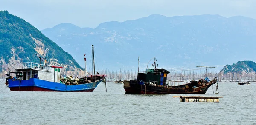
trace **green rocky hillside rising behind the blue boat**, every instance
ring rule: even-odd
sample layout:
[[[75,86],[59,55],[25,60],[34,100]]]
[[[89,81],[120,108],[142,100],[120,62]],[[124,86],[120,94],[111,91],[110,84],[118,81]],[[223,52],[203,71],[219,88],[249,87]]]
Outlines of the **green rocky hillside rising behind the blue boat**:
[[[37,28],[8,11],[0,11],[0,67],[8,61],[12,63],[11,67],[17,62],[40,63],[39,57],[44,58],[42,62],[47,60],[49,64],[62,65],[64,69],[81,69],[70,54]]]

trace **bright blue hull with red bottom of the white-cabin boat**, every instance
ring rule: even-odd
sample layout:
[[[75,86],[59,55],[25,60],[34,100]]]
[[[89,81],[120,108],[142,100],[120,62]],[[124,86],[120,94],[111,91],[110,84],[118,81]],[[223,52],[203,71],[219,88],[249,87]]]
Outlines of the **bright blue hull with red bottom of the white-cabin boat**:
[[[36,78],[29,80],[8,80],[11,91],[93,91],[103,79],[79,85],[65,85]]]

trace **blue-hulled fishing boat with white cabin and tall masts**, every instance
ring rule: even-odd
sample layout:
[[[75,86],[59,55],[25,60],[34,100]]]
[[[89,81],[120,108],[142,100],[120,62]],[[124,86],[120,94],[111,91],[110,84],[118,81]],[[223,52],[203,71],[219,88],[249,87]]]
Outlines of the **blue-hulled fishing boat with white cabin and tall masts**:
[[[84,61],[86,65],[85,55]],[[15,73],[16,77],[7,74],[6,86],[11,91],[93,91],[102,80],[105,81],[105,75],[95,75],[95,70],[94,75],[87,76],[86,73],[86,76],[80,79],[70,76],[62,79],[62,68],[33,62],[21,63],[15,72],[10,72]]]

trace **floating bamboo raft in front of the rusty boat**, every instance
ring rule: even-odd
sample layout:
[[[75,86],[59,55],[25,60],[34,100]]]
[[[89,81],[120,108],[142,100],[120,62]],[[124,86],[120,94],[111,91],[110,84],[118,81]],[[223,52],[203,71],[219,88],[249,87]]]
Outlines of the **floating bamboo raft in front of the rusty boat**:
[[[173,96],[174,98],[180,98],[180,102],[220,102],[219,98],[222,97],[200,97],[200,96]]]

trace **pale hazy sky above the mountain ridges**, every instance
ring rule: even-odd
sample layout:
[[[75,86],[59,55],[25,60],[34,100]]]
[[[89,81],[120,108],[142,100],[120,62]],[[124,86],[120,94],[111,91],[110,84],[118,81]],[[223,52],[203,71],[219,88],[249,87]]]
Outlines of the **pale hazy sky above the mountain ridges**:
[[[8,10],[40,30],[66,22],[95,28],[102,22],[151,14],[241,15],[256,19],[256,0],[0,0],[0,10]]]

